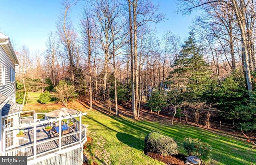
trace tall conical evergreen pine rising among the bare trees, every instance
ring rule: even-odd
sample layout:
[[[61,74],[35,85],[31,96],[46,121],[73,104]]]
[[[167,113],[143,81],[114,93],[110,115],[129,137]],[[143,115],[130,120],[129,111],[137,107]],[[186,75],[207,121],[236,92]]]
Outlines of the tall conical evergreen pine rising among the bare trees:
[[[210,87],[210,70],[203,58],[202,48],[196,44],[194,32],[189,34],[174,62],[174,70],[170,72],[169,80],[182,89],[183,99],[198,101],[204,98],[204,93]]]

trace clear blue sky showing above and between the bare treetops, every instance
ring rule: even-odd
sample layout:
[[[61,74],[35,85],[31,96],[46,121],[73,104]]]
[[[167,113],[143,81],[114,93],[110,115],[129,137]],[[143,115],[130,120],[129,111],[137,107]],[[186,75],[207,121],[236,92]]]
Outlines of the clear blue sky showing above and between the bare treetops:
[[[157,0],[154,0],[158,2]],[[161,37],[164,31],[170,30],[187,38],[192,18],[176,14],[176,4],[173,0],[161,0],[160,11],[166,14],[164,22],[156,25],[157,35]],[[83,1],[80,1],[70,13],[74,25],[78,24]],[[23,44],[30,49],[44,51],[50,31],[56,31],[56,21],[61,5],[58,0],[1,0],[0,32],[9,36],[14,49]]]

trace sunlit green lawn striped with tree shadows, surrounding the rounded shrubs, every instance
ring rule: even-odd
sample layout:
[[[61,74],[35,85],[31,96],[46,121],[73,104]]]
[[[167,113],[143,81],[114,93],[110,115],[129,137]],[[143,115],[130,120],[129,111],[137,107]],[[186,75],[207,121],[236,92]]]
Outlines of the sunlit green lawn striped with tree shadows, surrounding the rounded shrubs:
[[[112,117],[98,111],[88,111],[83,123],[89,124],[91,132],[103,136],[107,152],[113,165],[161,164],[143,153],[144,137],[150,131],[160,131],[178,143],[178,152],[185,154],[182,147],[184,137],[199,138],[213,147],[214,165],[255,165],[256,149],[246,140],[213,133],[205,129],[175,123],[173,126],[147,121],[135,121],[126,117]],[[92,137],[96,140],[98,137]]]

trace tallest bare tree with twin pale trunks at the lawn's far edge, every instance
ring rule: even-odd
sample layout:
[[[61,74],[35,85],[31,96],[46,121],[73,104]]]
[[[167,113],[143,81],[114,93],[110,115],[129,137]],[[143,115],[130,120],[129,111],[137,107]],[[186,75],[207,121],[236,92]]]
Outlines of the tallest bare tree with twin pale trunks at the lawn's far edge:
[[[158,6],[152,1],[145,0],[127,0],[129,13],[129,33],[130,33],[130,54],[132,70],[132,117],[139,118],[139,78],[138,78],[138,28],[146,25],[148,22],[160,22],[164,15],[157,13]]]

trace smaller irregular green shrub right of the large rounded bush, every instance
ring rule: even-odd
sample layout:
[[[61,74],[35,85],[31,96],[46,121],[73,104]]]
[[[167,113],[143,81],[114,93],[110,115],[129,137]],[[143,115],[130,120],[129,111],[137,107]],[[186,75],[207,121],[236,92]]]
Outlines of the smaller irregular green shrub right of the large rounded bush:
[[[204,165],[209,165],[212,157],[212,147],[208,143],[201,142],[200,139],[184,138],[184,149],[187,154],[199,157]]]

